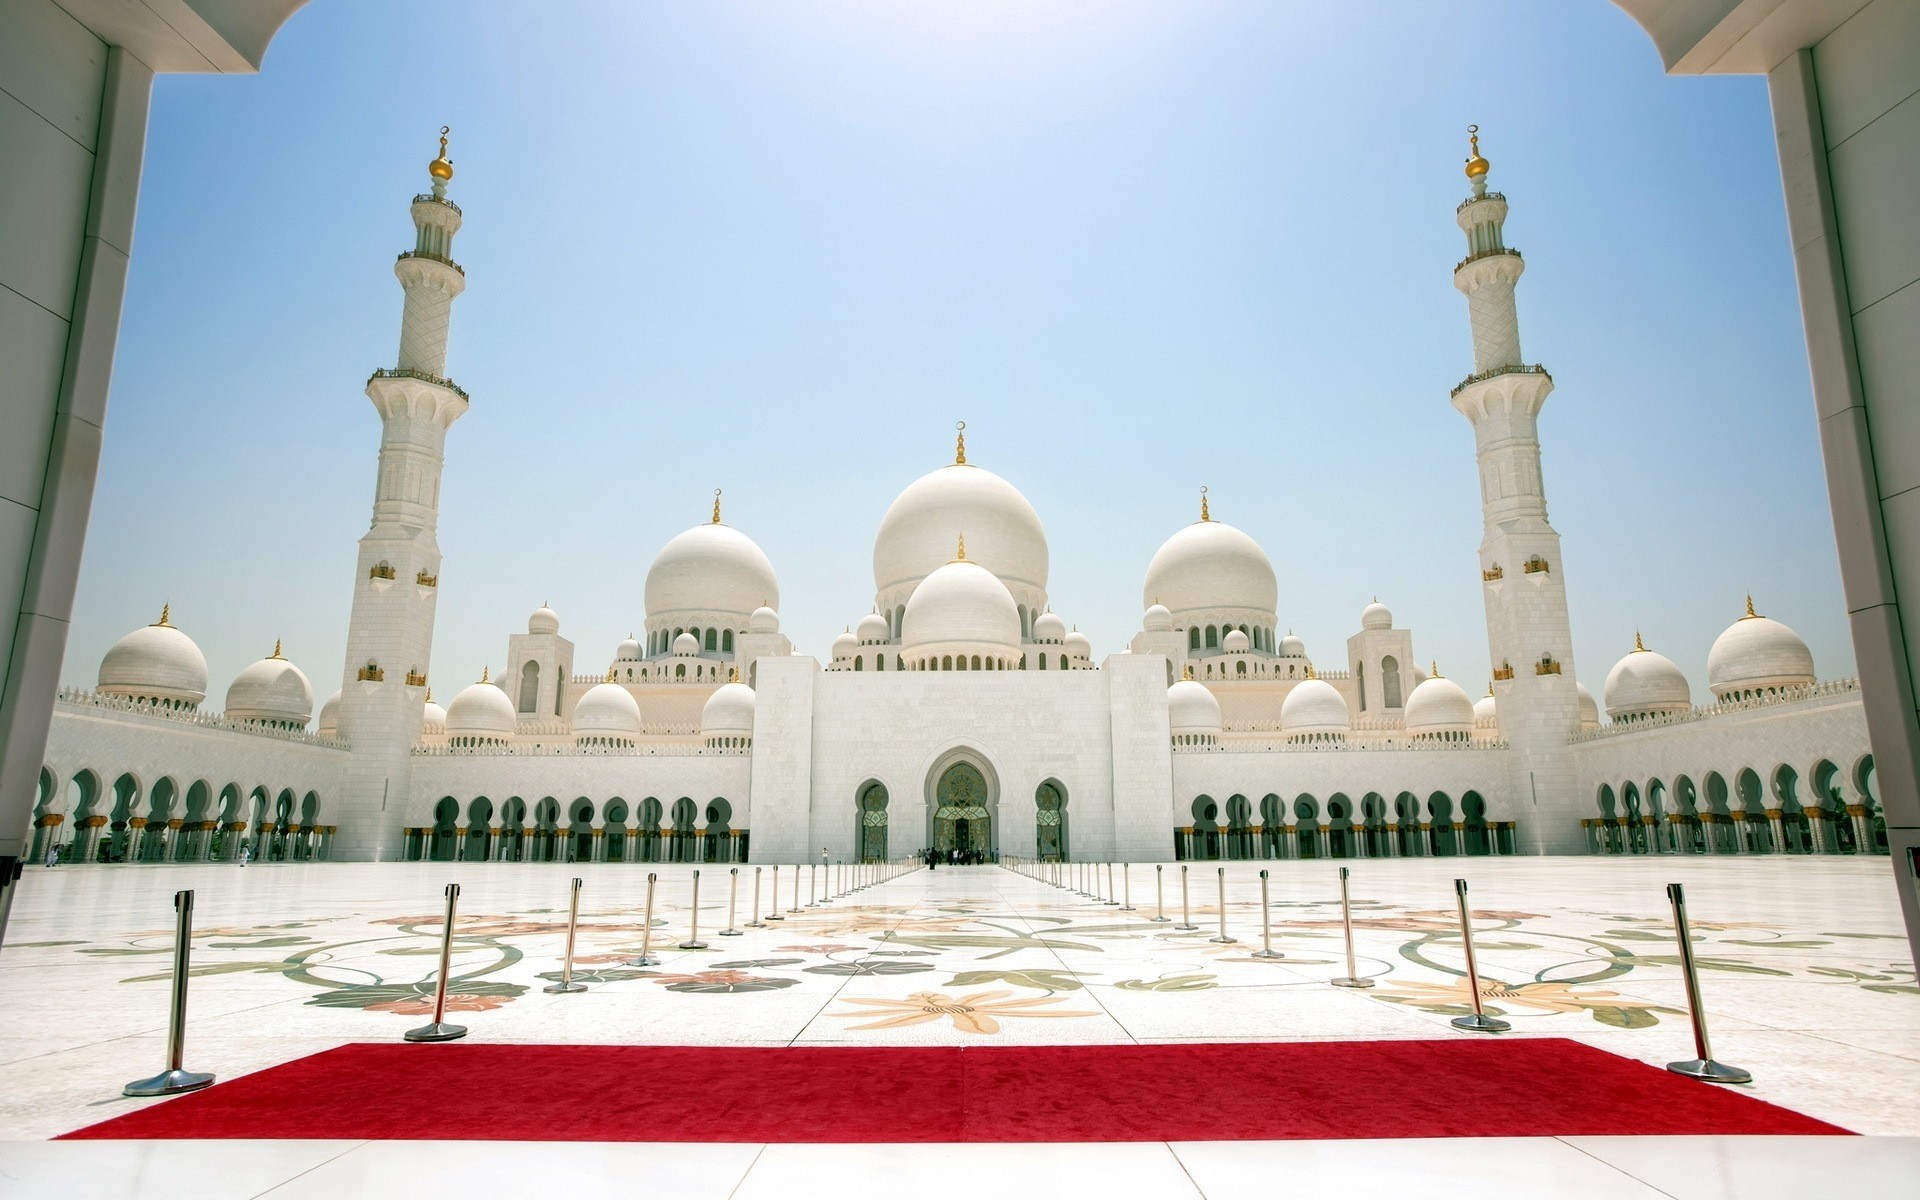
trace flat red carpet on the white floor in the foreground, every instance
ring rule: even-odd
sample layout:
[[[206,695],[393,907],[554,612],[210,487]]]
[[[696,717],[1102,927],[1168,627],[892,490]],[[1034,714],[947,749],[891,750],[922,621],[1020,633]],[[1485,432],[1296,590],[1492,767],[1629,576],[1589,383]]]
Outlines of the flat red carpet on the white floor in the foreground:
[[[69,1139],[1142,1142],[1847,1133],[1563,1039],[1177,1046],[349,1044]]]

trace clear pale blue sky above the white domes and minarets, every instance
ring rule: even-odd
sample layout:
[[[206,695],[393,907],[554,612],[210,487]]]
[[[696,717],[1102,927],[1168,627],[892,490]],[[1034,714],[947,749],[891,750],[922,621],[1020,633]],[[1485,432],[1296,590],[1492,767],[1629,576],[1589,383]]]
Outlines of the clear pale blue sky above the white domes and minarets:
[[[601,668],[714,488],[824,655],[960,419],[1096,657],[1206,484],[1321,664],[1379,595],[1478,693],[1471,121],[1580,680],[1638,628],[1707,699],[1749,589],[1853,674],[1764,83],[1663,77],[1603,0],[313,0],[261,75],[156,86],[65,680],[171,601],[209,708],[275,637],[338,687],[449,123],[442,701],[541,601]]]

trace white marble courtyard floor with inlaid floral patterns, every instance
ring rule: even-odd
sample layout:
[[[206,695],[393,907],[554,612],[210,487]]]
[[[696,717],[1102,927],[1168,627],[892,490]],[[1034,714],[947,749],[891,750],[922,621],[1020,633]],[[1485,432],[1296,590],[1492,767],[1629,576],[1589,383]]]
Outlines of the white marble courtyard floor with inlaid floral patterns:
[[[1271,870],[1277,962],[1260,941],[1261,866]],[[601,1179],[659,1181],[664,1194],[758,1196],[879,1190],[899,1171],[966,1156],[993,1162],[1002,1194],[1238,1196],[1288,1179],[1519,1185],[1576,1196],[1718,1196],[1820,1169],[1907,1171],[1920,1142],[1885,1139],[1524,1139],[1446,1142],[1206,1142],[1142,1146],[637,1146],[488,1142],[33,1142],[140,1104],[119,1087],[161,1066],[171,893],[196,889],[188,1066],[230,1077],[348,1041],[394,1041],[422,1020],[442,885],[461,881],[455,1020],[472,1039],[676,1044],[966,1044],[1467,1037],[1452,879],[1473,883],[1482,995],[1515,1035],[1588,1041],[1645,1062],[1690,1056],[1663,885],[1684,881],[1713,1012],[1715,1050],[1755,1073],[1745,1089],[1847,1129],[1920,1137],[1920,989],[1885,860],[1394,860],[1357,862],[1359,972],[1344,973],[1331,864],[1227,864],[1227,931],[1215,945],[1215,868],[1188,874],[1196,931],[1177,931],[1179,868],[1156,924],[1152,866],[1131,879],[1135,912],[998,868],[914,872],[780,925],[718,937],[728,874],[703,868],[701,950],[685,941],[691,868],[518,864],[313,864],[56,868],[23,881],[0,950],[0,1194],[171,1194],[179,1164],[215,1154],[217,1194],[447,1190],[470,1173],[499,1187],[536,1171],[553,1194],[601,1194]],[[659,872],[653,948],[641,941],[647,872]],[[741,874],[737,924],[751,910]],[[589,991],[545,995],[559,970],[566,883],[586,879],[578,975]],[[781,870],[791,906],[791,868]],[[762,908],[772,874],[762,870]],[[1100,887],[1106,877],[1100,874]],[[962,1020],[864,1029],[889,1002],[939,993]],[[1006,1000],[1025,1000],[1006,1008]],[[1703,1085],[1705,1087],[1705,1085]],[[511,1129],[497,1131],[513,1139]],[[1371,1148],[1369,1148],[1371,1146]],[[1778,1169],[1755,1165],[1784,1158]],[[63,1165],[108,1190],[79,1192]],[[1713,1165],[1720,1164],[1720,1165]],[[1878,1164],[1878,1165],[1876,1165]],[[956,1162],[956,1169],[960,1164]],[[1701,1171],[1705,1169],[1705,1175]],[[1811,1165],[1809,1165],[1811,1169]],[[555,1181],[564,1173],[566,1187]],[[574,1175],[580,1177],[578,1185]],[[61,1177],[60,1188],[48,1190]],[[929,1175],[939,1179],[941,1175]],[[998,1179],[1025,1181],[1000,1187]],[[397,1181],[413,1181],[405,1187]],[[889,1185],[891,1187],[891,1185]],[[1699,1190],[1716,1187],[1720,1190]],[[117,1188],[117,1190],[115,1190]],[[253,1190],[246,1190],[253,1188]],[[1185,1190],[1183,1190],[1185,1188]],[[1688,1190],[1692,1188],[1692,1190]],[[417,1190],[417,1188],[413,1188]],[[770,1194],[770,1190],[768,1190]],[[1250,1194],[1250,1192],[1248,1192]],[[1442,1192],[1440,1194],[1448,1194]],[[1786,1194],[1786,1192],[1782,1192]]]

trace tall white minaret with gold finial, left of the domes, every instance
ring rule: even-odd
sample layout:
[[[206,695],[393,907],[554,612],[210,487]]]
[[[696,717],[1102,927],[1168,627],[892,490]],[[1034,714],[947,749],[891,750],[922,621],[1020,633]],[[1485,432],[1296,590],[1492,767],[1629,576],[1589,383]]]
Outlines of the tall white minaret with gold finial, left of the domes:
[[[467,288],[453,261],[461,209],[447,200],[453,161],[447,129],[440,157],[426,165],[432,190],[413,198],[413,250],[394,275],[407,300],[399,319],[399,363],[374,371],[367,399],[380,413],[380,474],[372,528],[361,538],[353,574],[353,616],[340,684],[340,735],[353,747],[346,793],[338,797],[334,858],[396,856],[403,843],[413,743],[426,708],[426,662],[440,595],[440,468],[447,426],[467,411],[467,394],[445,378],[447,317]]]

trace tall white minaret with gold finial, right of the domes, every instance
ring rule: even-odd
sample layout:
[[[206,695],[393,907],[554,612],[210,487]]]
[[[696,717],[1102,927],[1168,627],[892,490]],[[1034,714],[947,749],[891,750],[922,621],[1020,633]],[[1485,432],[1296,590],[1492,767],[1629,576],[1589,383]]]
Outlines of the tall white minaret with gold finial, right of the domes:
[[[1521,359],[1513,286],[1526,263],[1503,240],[1507,198],[1486,190],[1478,127],[1467,132],[1473,194],[1457,211],[1467,257],[1453,267],[1453,286],[1467,296],[1473,319],[1473,374],[1453,388],[1453,407],[1473,422],[1480,463],[1486,641],[1500,693],[1500,735],[1511,747],[1513,806],[1505,816],[1519,822],[1515,849],[1578,852],[1584,808],[1574,795],[1567,743],[1580,728],[1580,703],[1559,534],[1548,524],[1536,428],[1553,376]]]

